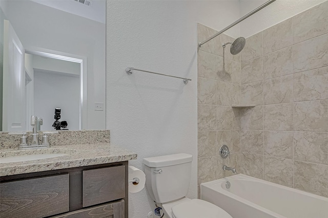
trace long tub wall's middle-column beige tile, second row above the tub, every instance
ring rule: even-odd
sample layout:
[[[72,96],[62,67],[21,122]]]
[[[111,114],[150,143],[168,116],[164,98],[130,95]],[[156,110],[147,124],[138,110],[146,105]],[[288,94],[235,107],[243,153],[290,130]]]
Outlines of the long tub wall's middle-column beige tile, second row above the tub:
[[[264,155],[293,159],[293,132],[264,131]]]

